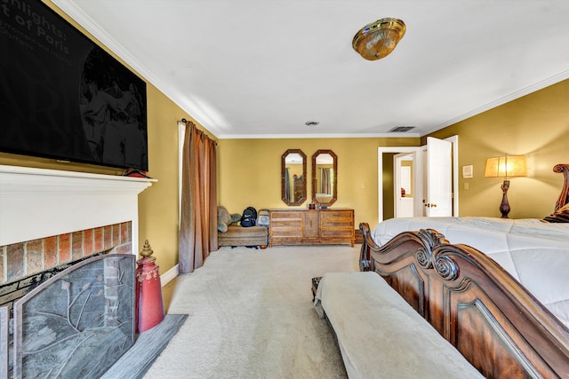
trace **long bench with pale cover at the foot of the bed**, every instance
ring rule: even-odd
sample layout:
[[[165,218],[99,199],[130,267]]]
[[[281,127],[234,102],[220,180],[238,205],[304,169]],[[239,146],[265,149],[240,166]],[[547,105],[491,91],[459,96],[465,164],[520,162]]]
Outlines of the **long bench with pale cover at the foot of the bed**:
[[[350,378],[483,377],[375,272],[325,273],[315,306]]]

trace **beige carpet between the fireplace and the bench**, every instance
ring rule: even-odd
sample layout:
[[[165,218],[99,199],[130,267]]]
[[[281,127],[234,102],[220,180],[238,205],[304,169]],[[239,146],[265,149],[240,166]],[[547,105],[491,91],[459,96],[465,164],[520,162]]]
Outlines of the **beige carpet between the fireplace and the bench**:
[[[345,378],[311,278],[357,271],[359,245],[221,248],[182,275],[169,313],[188,313],[146,378]]]

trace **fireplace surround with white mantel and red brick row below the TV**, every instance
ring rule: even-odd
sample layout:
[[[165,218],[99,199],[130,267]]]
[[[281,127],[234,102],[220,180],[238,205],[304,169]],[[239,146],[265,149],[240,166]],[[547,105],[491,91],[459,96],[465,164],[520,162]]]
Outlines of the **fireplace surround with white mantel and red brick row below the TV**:
[[[0,284],[109,249],[137,254],[155,180],[0,165]]]

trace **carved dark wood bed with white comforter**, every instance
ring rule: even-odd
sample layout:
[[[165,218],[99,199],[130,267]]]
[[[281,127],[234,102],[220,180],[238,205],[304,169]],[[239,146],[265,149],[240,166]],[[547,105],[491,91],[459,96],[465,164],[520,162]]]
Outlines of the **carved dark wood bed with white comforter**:
[[[360,270],[379,274],[485,377],[569,378],[569,166],[554,170],[565,180],[549,223],[413,218],[373,231],[362,223]]]

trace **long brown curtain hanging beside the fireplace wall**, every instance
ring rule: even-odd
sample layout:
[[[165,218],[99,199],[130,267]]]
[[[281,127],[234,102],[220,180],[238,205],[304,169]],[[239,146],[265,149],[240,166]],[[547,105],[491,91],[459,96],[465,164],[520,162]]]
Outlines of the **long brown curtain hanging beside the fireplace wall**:
[[[182,153],[180,273],[193,272],[217,246],[216,143],[186,122]]]

